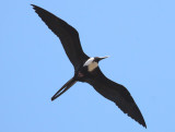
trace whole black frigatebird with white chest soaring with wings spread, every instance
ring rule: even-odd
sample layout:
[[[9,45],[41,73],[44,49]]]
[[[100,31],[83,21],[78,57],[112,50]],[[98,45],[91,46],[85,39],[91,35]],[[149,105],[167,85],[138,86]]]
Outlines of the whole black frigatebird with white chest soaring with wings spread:
[[[114,101],[125,113],[147,128],[144,119],[127,88],[107,79],[98,68],[98,62],[107,57],[89,57],[81,47],[79,33],[68,23],[50,12],[32,4],[38,16],[60,39],[65,51],[74,67],[70,79],[52,97],[55,100],[77,82],[86,82],[105,98]]]

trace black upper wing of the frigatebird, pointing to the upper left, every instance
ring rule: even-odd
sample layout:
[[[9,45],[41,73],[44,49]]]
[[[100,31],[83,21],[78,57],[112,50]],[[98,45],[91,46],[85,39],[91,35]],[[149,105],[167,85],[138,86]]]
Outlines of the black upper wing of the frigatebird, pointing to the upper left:
[[[59,37],[69,60],[77,70],[80,64],[84,63],[85,60],[89,59],[89,57],[82,50],[79,33],[68,23],[50,12],[37,5],[32,5],[48,28],[50,28]]]

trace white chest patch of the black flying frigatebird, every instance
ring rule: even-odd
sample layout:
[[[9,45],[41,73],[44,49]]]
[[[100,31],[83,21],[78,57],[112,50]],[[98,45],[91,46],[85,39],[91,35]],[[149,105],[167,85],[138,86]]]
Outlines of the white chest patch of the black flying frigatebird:
[[[94,60],[94,58],[90,58],[83,65],[83,67],[85,67],[85,65],[88,67],[89,72],[92,72],[98,65],[97,62],[95,62],[93,60]]]

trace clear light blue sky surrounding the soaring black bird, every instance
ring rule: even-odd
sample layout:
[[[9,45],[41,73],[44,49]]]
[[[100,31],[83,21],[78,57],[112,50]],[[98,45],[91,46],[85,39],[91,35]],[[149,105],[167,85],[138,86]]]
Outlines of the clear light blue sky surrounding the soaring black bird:
[[[89,56],[110,56],[102,71],[148,129],[85,83],[50,101],[73,67],[31,3],[75,27]],[[0,132],[175,132],[174,0],[3,0],[0,36]]]

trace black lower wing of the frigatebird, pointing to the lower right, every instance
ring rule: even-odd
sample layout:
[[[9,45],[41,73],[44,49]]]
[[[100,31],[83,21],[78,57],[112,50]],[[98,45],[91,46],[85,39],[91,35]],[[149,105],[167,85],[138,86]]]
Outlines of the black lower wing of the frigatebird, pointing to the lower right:
[[[93,71],[93,79],[86,79],[85,82],[105,98],[114,101],[125,113],[147,128],[138,106],[126,87],[108,80],[100,68]]]

